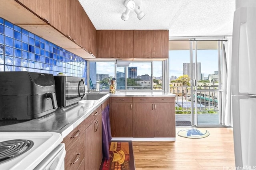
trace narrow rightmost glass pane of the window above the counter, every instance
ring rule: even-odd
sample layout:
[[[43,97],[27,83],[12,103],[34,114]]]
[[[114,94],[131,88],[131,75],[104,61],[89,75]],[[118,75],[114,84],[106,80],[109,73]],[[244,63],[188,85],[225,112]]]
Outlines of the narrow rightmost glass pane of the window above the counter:
[[[153,61],[153,90],[162,90],[162,61]]]

